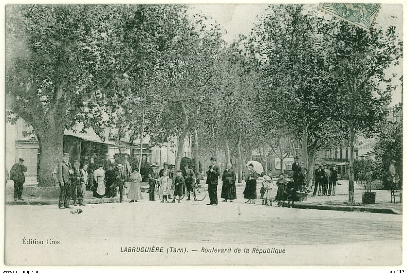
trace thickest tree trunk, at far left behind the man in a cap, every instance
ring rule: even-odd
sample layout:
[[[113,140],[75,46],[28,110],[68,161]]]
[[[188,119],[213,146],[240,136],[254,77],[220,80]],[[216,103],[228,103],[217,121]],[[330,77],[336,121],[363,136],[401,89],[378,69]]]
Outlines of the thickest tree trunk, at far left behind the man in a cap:
[[[61,126],[46,124],[46,128],[35,129],[39,144],[39,187],[56,185],[53,172],[62,161],[63,132]]]

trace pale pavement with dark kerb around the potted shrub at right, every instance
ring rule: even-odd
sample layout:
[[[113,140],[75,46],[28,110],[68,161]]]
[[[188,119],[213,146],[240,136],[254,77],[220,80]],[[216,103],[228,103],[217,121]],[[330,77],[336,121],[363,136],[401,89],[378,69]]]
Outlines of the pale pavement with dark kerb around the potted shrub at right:
[[[376,192],[376,204],[362,204],[363,187],[354,185],[354,205],[348,203],[348,181],[340,180],[337,185],[335,196],[315,196],[311,197],[312,191],[307,196],[307,200],[296,202],[295,208],[301,209],[325,209],[340,211],[359,211],[371,213],[403,214],[403,203],[391,203],[389,190],[374,190]],[[312,189],[313,190],[313,189]],[[398,199],[396,199],[398,200]]]

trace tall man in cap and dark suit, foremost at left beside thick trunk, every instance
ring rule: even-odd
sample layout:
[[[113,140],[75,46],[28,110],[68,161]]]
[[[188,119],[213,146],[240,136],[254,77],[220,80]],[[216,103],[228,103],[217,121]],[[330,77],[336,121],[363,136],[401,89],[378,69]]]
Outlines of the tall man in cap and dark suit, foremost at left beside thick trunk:
[[[59,208],[72,208],[69,206],[71,200],[71,180],[72,174],[71,163],[69,162],[69,153],[63,154],[62,163],[58,164],[58,180],[59,180]]]

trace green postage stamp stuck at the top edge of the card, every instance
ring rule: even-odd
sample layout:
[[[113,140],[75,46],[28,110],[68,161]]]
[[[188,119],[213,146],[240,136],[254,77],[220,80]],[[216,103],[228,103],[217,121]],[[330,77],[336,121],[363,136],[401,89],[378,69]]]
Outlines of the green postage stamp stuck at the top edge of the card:
[[[379,3],[321,3],[319,5],[322,11],[366,30],[369,30],[373,24],[379,8]]]

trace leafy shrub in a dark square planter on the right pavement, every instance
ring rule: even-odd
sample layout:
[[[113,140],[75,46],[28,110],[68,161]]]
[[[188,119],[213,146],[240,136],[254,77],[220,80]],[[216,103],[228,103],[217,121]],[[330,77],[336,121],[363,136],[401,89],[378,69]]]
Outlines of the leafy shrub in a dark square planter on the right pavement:
[[[358,183],[363,187],[362,203],[375,204],[376,192],[372,192],[372,183],[376,171],[376,165],[372,159],[362,159],[355,165],[355,174]]]

